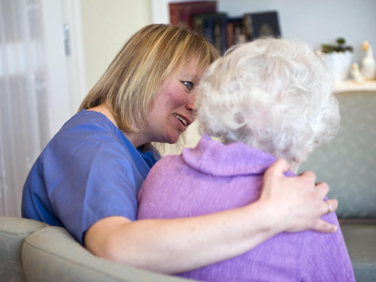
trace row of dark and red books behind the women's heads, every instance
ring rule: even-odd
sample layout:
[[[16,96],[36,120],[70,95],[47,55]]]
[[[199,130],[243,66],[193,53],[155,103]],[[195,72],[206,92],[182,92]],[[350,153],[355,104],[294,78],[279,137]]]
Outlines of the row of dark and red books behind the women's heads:
[[[261,36],[281,36],[276,11],[229,18],[226,13],[217,12],[217,1],[175,2],[169,8],[171,24],[203,33],[222,54],[232,45]]]

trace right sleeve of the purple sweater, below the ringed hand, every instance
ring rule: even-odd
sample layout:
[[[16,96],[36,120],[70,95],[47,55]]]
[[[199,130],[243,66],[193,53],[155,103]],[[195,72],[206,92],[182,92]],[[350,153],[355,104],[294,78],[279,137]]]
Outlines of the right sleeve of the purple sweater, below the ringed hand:
[[[300,257],[302,281],[355,281],[349,253],[335,213],[321,217],[338,230],[332,234],[306,231]]]

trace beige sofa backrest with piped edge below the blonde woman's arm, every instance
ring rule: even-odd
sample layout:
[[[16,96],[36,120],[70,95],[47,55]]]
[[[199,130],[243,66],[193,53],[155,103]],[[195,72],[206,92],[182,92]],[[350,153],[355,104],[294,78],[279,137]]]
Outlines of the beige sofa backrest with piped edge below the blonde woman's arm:
[[[28,282],[192,281],[117,264],[92,255],[64,228],[50,226],[29,235],[22,246]]]

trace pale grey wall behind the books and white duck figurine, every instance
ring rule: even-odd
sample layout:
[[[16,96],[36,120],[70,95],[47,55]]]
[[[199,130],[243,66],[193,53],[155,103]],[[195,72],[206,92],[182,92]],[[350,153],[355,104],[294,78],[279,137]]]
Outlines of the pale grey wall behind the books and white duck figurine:
[[[231,17],[276,10],[285,38],[301,39],[317,49],[342,36],[355,48],[358,63],[364,56],[362,41],[371,41],[376,51],[375,0],[218,0],[218,8]]]

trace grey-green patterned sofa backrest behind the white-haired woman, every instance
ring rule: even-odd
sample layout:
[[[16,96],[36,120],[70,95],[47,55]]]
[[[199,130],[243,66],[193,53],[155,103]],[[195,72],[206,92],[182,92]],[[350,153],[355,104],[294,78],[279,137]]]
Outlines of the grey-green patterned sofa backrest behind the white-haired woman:
[[[327,148],[312,154],[299,172],[312,170],[338,199],[338,217],[376,217],[375,92],[337,95],[341,128]]]

